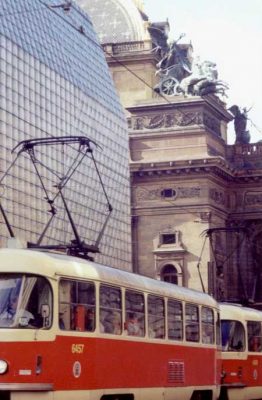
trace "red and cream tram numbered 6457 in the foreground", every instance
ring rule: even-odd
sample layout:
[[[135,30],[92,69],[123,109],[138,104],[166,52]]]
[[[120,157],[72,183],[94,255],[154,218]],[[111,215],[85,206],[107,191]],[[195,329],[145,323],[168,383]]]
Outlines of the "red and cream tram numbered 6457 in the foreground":
[[[206,294],[69,256],[0,250],[1,400],[216,399],[219,326]],[[254,380],[259,362],[254,354]]]

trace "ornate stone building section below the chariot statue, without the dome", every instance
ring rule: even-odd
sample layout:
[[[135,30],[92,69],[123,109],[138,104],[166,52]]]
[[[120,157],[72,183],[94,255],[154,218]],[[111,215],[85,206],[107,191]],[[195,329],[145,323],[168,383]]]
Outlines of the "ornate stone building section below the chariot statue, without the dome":
[[[260,302],[262,145],[226,144],[215,96],[129,111],[136,271]]]

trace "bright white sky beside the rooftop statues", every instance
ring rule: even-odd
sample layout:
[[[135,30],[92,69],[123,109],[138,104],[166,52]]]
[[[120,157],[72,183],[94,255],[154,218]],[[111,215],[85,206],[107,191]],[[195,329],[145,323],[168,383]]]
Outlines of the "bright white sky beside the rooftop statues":
[[[170,24],[170,39],[185,33],[194,57],[214,61],[227,82],[225,99],[250,109],[247,129],[252,143],[262,140],[262,0],[144,0],[151,22]],[[235,141],[233,122],[228,143]]]

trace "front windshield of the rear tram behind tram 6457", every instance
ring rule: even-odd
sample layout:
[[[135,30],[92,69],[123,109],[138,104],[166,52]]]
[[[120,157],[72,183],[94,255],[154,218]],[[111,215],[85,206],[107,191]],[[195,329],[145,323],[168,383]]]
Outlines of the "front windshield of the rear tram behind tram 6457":
[[[223,351],[245,350],[245,329],[241,322],[234,320],[222,320],[221,333]]]

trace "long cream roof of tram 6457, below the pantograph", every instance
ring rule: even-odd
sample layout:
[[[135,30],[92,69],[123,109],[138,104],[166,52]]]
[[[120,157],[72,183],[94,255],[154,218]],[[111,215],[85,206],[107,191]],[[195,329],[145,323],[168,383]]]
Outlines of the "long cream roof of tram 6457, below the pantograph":
[[[0,249],[0,271],[34,273],[53,279],[60,276],[91,279],[217,307],[217,302],[211,296],[197,290],[58,253],[28,249]]]

